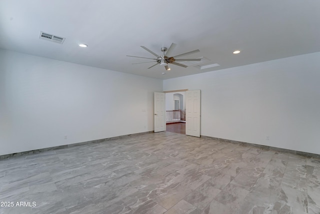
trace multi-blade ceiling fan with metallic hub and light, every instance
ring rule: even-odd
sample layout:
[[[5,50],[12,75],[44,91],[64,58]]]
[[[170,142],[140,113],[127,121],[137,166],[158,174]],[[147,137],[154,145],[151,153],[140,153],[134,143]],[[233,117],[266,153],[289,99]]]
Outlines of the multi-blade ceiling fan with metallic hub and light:
[[[186,55],[189,55],[189,54],[197,53],[197,52],[199,52],[198,49],[194,50],[194,51],[186,52],[186,53],[183,53],[183,54],[179,54],[179,55],[176,55],[176,56],[173,56],[173,57],[169,57],[170,53],[175,48],[175,46],[176,46],[176,44],[172,43],[168,49],[166,47],[161,47],[161,52],[163,52],[163,54],[160,55],[160,56],[155,54],[151,50],[145,48],[144,46],[140,46],[141,48],[143,48],[147,52],[149,52],[152,55],[154,55],[156,58],[136,57],[136,56],[129,56],[129,55],[126,55],[126,56],[127,57],[136,57],[136,58],[155,60],[155,61],[142,62],[142,63],[156,62],[154,65],[150,66],[149,68],[152,68],[153,66],[156,66],[156,65],[161,65],[161,66],[164,66],[165,70],[167,70],[167,71],[170,70],[170,68],[168,67],[168,64],[173,64],[173,65],[177,65],[177,66],[181,66],[181,67],[186,68],[187,67],[186,65],[183,65],[183,64],[180,64],[180,63],[176,63],[176,62],[178,62],[178,61],[180,61],[180,62],[182,62],[182,61],[200,61],[201,60],[201,58],[200,59],[175,59],[175,58],[179,58],[179,57],[186,56]],[[132,64],[141,64],[141,63],[132,63]]]

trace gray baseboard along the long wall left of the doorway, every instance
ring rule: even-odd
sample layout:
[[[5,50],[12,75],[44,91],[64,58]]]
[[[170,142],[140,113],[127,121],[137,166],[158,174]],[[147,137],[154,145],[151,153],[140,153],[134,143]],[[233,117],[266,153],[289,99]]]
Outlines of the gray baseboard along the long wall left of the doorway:
[[[51,151],[51,150],[56,150],[56,149],[69,148],[69,147],[80,146],[80,145],[87,145],[87,144],[91,144],[91,143],[100,143],[103,141],[116,140],[116,139],[120,139],[123,137],[136,136],[136,135],[147,134],[147,133],[153,133],[153,131],[127,134],[127,135],[121,135],[121,136],[109,137],[109,138],[103,138],[103,139],[97,139],[97,140],[89,140],[89,141],[85,141],[85,142],[72,143],[72,144],[66,144],[66,145],[61,145],[61,146],[53,146],[53,147],[47,147],[47,148],[41,148],[41,149],[34,149],[34,150],[30,150],[30,151],[22,151],[22,152],[17,152],[17,153],[12,153],[12,154],[3,154],[3,155],[0,155],[0,160],[12,158],[12,157],[17,157],[17,156],[22,156],[22,155],[40,153],[40,152],[44,152],[44,151]]]

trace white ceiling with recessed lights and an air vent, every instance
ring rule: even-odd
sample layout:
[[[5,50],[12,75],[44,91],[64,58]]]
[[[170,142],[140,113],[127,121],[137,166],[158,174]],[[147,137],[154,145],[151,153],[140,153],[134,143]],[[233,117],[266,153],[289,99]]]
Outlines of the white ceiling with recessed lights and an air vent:
[[[40,31],[65,37],[40,40]],[[78,44],[87,44],[80,48]],[[198,69],[147,59],[145,46],[183,58],[205,57]],[[0,0],[0,48],[113,71],[170,79],[301,54],[320,52],[320,1],[316,0]],[[241,50],[234,55],[234,50]],[[162,75],[161,73],[165,74]]]

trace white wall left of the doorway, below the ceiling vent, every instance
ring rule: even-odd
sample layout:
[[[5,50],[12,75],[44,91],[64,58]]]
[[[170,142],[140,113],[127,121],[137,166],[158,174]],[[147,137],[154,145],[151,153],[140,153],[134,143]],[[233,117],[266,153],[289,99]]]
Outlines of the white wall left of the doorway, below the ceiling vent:
[[[155,91],[162,80],[0,49],[0,155],[152,131]]]

